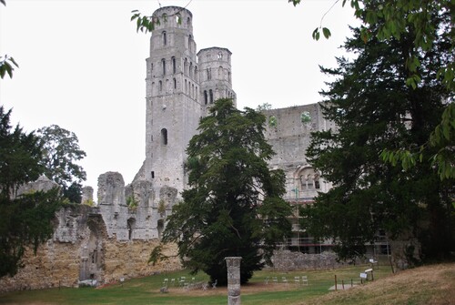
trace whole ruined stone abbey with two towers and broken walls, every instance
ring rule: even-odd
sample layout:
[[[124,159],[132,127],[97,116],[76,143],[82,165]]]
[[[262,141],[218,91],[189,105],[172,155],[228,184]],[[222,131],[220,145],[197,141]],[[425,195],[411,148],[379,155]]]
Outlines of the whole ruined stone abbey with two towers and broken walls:
[[[200,117],[221,97],[232,98],[231,52],[225,47],[197,50],[193,15],[168,6],[154,13],[161,18],[150,37],[147,58],[146,158],[136,178],[125,185],[119,173],[98,178],[96,206],[64,208],[56,215],[54,237],[25,255],[25,267],[13,278],[0,279],[0,291],[77,286],[80,280],[106,283],[179,269],[177,259],[152,266],[150,250],[157,245],[166,217],[187,187],[187,143],[197,133]],[[140,60],[140,58],[138,58]],[[284,169],[287,195],[293,204],[310,202],[330,186],[308,166],[305,151],[311,131],[327,130],[318,104],[265,110],[266,137],[277,155],[270,168]],[[41,178],[29,186],[45,189]],[[93,201],[85,188],[83,201]],[[288,246],[308,253],[329,244],[305,246],[295,219],[296,236]],[[170,252],[175,249],[167,249]],[[300,266],[301,267],[301,266]]]

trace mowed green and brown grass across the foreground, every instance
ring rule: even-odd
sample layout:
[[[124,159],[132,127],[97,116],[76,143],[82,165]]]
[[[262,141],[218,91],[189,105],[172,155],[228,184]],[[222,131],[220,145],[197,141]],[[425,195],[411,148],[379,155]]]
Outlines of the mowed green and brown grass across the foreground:
[[[247,285],[241,287],[242,304],[455,304],[455,263],[410,269],[392,274],[389,266],[374,270],[374,281],[351,290],[329,290],[335,283],[344,282],[349,288],[359,284],[359,273],[368,265],[343,269],[279,272],[273,269],[256,272]],[[308,286],[297,285],[295,276],[308,276]],[[213,290],[183,290],[169,287],[168,293],[160,293],[164,279],[193,276],[187,271],[163,273],[141,279],[114,283],[102,289],[51,289],[16,291],[0,295],[0,304],[227,304],[227,288]],[[265,279],[269,278],[268,285]],[[278,284],[272,278],[278,278]],[[282,282],[286,277],[288,284]],[[205,274],[198,273],[197,281],[207,281]]]

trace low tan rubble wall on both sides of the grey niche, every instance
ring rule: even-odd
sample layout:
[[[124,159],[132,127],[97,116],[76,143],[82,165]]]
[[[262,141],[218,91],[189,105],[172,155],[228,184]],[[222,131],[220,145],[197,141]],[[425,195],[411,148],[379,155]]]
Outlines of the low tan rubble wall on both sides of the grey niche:
[[[151,249],[157,240],[133,240],[120,242],[105,239],[104,261],[101,273],[96,277],[99,284],[181,269],[178,259],[170,259],[156,266],[147,264]],[[175,249],[168,249],[174,252]],[[81,272],[80,244],[49,240],[39,247],[25,252],[25,266],[15,277],[0,278],[0,292],[13,290],[37,290],[56,287],[77,287]]]

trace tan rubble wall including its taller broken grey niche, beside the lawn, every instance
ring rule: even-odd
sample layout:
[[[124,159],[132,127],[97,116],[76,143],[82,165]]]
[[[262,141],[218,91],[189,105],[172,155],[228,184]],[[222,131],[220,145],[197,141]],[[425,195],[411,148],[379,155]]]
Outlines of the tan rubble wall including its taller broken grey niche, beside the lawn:
[[[99,284],[181,269],[178,259],[152,266],[147,264],[158,239],[116,239],[107,234],[100,208],[72,205],[56,214],[52,239],[41,245],[36,255],[27,249],[24,268],[15,277],[0,278],[0,292],[53,287],[76,287],[79,280]],[[165,254],[176,253],[169,247]]]

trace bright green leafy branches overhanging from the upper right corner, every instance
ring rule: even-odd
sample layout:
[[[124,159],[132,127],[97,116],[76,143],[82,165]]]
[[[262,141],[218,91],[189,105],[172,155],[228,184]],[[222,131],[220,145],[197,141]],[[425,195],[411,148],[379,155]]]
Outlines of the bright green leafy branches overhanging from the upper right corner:
[[[288,0],[294,6],[300,3],[300,0]],[[348,1],[343,0],[342,5]],[[432,44],[438,39],[444,39],[449,47],[448,54],[455,53],[453,42],[454,27],[453,19],[455,13],[454,5],[451,0],[439,1],[409,1],[409,0],[350,0],[351,7],[355,10],[355,15],[362,21],[360,28],[361,38],[368,44],[371,38],[381,41],[400,39],[401,36],[411,35],[410,56],[406,58],[406,69],[408,76],[403,79],[407,86],[416,88],[421,86],[423,79],[420,75],[421,57],[417,54],[424,55],[432,52]],[[334,5],[339,0],[334,1]],[[333,7],[333,5],[332,5]],[[327,13],[326,13],[327,14]],[[321,24],[313,31],[313,38],[318,40],[320,30],[323,35],[329,38],[330,31],[323,27],[324,14],[321,18]],[[431,15],[450,15],[448,24],[444,26],[435,25]],[[439,27],[438,27],[439,26]],[[370,27],[377,27],[374,33],[369,30]],[[438,31],[435,29],[438,27]],[[455,60],[440,61],[440,65],[432,66],[432,79],[440,81],[450,91],[455,90]],[[397,147],[395,149],[384,148],[381,152],[381,158],[391,164],[400,163],[403,168],[414,166],[417,162],[428,154],[428,151],[434,151],[431,156],[431,167],[435,168],[441,179],[455,178],[455,105],[453,99],[444,107],[440,116],[440,123],[430,133],[427,141],[420,147]]]

